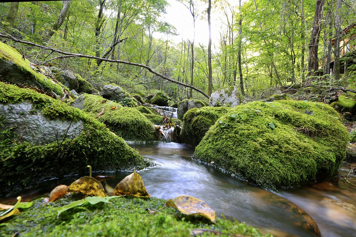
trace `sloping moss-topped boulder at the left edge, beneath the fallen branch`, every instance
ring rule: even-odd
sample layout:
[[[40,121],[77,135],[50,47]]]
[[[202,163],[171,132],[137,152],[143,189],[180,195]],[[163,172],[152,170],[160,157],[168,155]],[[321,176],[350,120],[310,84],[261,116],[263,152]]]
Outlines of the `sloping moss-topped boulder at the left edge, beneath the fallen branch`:
[[[46,92],[61,96],[63,95],[62,88],[69,91],[62,84],[57,84],[47,78],[39,69],[39,72],[33,70],[31,66],[30,61],[23,60],[22,55],[16,49],[0,42],[0,75],[3,80],[11,84],[35,85]]]

